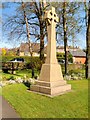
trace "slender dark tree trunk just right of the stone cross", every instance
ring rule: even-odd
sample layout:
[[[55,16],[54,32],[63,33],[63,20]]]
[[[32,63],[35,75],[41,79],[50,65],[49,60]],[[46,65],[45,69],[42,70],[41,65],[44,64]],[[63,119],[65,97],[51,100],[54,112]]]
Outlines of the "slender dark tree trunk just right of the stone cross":
[[[65,74],[67,74],[67,29],[66,29],[66,2],[63,2],[63,31],[64,31],[64,51],[65,51]]]

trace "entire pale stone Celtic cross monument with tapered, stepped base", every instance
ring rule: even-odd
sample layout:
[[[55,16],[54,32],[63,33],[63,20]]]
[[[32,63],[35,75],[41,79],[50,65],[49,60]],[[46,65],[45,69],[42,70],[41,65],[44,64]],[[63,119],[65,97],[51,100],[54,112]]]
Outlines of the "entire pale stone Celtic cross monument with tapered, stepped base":
[[[43,93],[49,96],[56,96],[71,90],[71,85],[63,80],[61,66],[56,58],[56,23],[59,21],[55,8],[45,13],[45,19],[48,23],[48,45],[47,58],[42,65],[39,80],[31,86],[31,91]]]

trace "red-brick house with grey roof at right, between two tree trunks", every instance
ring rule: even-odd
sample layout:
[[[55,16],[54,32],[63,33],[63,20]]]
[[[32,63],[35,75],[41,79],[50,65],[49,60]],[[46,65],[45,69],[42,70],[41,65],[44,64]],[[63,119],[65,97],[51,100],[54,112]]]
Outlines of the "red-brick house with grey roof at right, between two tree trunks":
[[[69,51],[69,52],[73,57],[73,63],[85,64],[85,61],[86,61],[86,53],[85,52],[83,52],[82,50]]]

